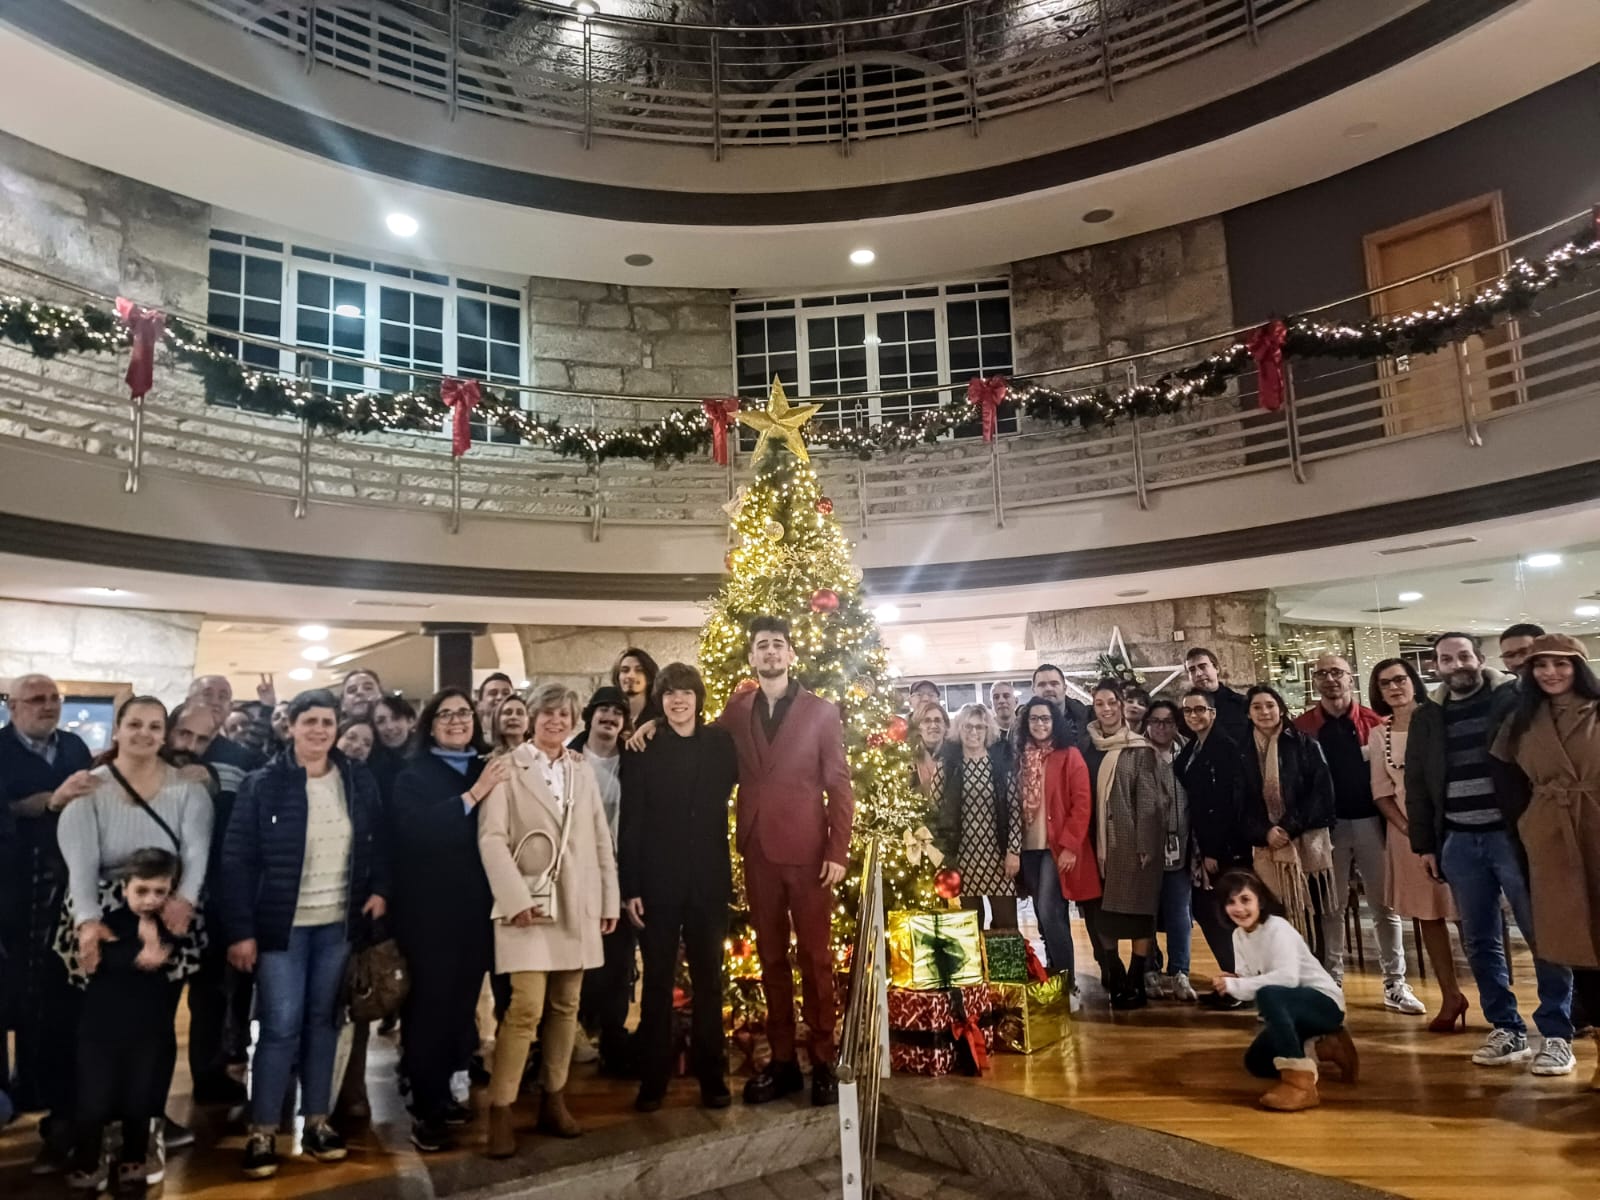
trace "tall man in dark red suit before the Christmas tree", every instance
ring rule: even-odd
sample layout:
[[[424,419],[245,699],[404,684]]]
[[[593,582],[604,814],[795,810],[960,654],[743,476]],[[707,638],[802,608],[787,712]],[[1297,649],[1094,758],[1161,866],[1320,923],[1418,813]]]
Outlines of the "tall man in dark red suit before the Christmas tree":
[[[736,843],[773,1048],[744,1085],[744,1102],[765,1104],[805,1086],[795,1061],[792,928],[811,1032],[811,1102],[834,1104],[834,888],[845,878],[856,813],[845,731],[834,704],[789,677],[795,653],[787,621],[755,618],[749,656],[760,686],[738,693],[717,720],[739,752]]]

